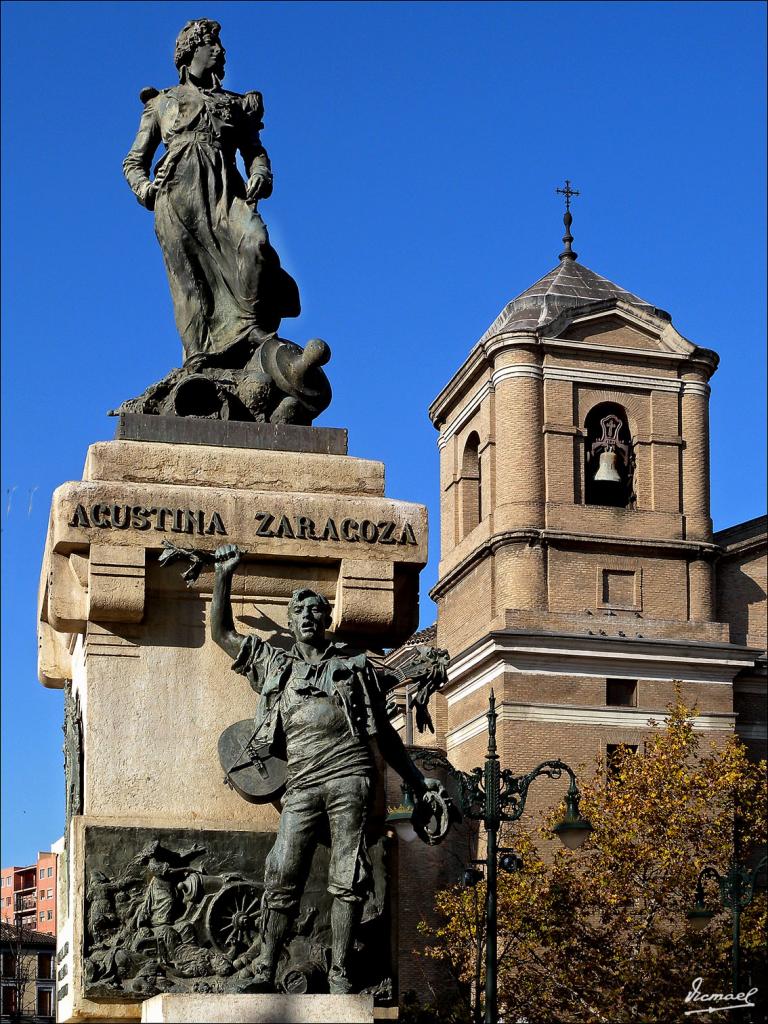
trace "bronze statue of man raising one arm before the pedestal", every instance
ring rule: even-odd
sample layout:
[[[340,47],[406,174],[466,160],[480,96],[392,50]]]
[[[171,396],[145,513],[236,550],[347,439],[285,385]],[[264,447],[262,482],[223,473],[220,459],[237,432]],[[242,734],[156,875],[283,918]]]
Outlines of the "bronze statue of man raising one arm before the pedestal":
[[[308,854],[326,821],[331,835],[328,890],[331,908],[332,993],[352,990],[347,959],[370,884],[366,850],[375,736],[386,762],[420,802],[437,800],[447,811],[442,785],[425,778],[386,715],[384,693],[372,662],[326,639],[331,608],[309,589],[294,592],[289,626],[295,643],[286,651],[234,629],[231,580],[241,552],[233,545],[215,554],[211,634],[260,694],[254,742],[284,745],[286,791],[278,837],[266,860],[261,953],[255,980],[274,980],[283,942],[301,899]]]

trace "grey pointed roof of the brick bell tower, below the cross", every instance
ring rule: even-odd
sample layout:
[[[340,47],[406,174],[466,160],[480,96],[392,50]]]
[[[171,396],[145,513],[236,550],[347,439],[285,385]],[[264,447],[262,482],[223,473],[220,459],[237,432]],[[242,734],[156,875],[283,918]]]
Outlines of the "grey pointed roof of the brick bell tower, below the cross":
[[[664,309],[601,278],[568,253],[563,254],[554,269],[508,302],[480,341],[514,331],[540,331],[567,309],[610,300],[637,306],[662,319],[672,319]]]

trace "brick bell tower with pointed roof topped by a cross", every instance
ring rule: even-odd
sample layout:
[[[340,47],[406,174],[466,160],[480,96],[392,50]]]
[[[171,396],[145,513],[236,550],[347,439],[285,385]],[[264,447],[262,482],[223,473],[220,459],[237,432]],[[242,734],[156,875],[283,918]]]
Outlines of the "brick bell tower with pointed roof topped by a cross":
[[[449,758],[574,768],[641,745],[683,684],[696,727],[733,731],[758,652],[716,621],[710,378],[718,356],[577,261],[509,302],[432,402],[439,431],[437,643]],[[544,795],[547,803],[559,791]]]

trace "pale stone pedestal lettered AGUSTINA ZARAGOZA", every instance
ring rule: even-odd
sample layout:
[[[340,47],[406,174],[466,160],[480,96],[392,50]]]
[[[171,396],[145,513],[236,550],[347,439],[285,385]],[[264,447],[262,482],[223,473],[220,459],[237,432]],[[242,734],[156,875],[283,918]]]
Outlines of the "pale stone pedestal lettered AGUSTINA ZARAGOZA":
[[[227,868],[221,850],[239,837],[252,846],[279,820],[275,807],[247,803],[223,782],[218,738],[253,716],[256,696],[210,639],[212,565],[187,587],[183,562],[158,564],[163,541],[208,551],[231,543],[247,552],[232,588],[236,627],[278,646],[292,642],[287,606],[298,587],[325,595],[332,638],[361,649],[392,646],[418,625],[426,510],[384,497],[381,463],[329,454],[328,446],[97,443],[83,479],[53,495],[38,618],[41,682],[67,688],[59,1021],[138,1019],[153,994],[152,982],[140,978],[130,992],[113,984],[115,964],[99,952],[121,920],[121,878],[136,874],[122,861],[122,877],[104,870],[101,882],[94,874],[110,860],[104,828],[113,829],[116,849],[120,829],[134,840],[140,830],[142,841],[162,834],[174,857],[190,855],[190,829],[218,837],[206,841],[219,850],[215,870],[210,851],[189,861],[210,902],[222,879],[231,884],[227,869],[253,882],[253,865]],[[97,954],[95,988],[86,952]],[[185,1019],[224,1018],[196,1010]]]

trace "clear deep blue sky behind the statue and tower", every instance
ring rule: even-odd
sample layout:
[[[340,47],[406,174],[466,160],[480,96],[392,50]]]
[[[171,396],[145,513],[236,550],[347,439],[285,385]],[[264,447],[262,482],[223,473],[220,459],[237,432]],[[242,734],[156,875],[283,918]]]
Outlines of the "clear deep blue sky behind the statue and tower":
[[[264,94],[262,212],[325,338],[350,454],[424,502],[426,409],[513,296],[574,248],[716,349],[716,527],[764,512],[765,6],[761,3],[12,3],[2,11],[3,847],[62,830],[59,691],[36,679],[50,495],[114,434],[106,410],[178,365],[152,217],[120,165],[138,91],[175,83],[190,17],[225,85]]]

